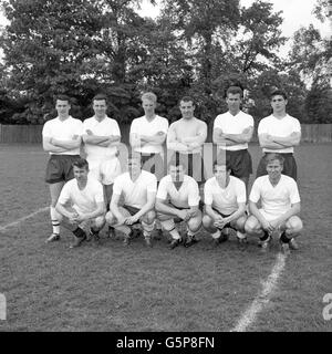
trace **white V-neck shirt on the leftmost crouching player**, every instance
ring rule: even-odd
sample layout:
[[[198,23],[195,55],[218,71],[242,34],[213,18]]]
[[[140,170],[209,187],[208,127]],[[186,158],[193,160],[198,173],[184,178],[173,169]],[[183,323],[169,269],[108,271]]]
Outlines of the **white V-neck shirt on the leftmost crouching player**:
[[[75,178],[69,180],[62,188],[59,202],[71,204],[79,212],[92,212],[97,204],[104,202],[103,186],[93,177],[87,177],[84,189],[80,189]]]

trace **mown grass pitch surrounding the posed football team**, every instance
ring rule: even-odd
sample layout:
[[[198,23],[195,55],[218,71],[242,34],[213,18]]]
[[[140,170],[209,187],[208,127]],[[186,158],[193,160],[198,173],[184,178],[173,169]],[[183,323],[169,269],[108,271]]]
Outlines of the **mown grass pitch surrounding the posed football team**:
[[[301,217],[300,250],[269,303],[249,331],[331,331],[322,317],[323,296],[332,293],[332,145],[297,149]],[[250,146],[253,168],[260,157]],[[0,145],[0,293],[7,321],[0,331],[230,331],[260,293],[278,256],[261,256],[257,240],[246,251],[235,238],[211,249],[203,232],[193,248],[147,249],[135,239],[125,249],[102,235],[101,244],[70,250],[69,232],[45,244],[49,214],[43,181],[46,155],[37,145]],[[2,227],[2,229],[1,229]]]

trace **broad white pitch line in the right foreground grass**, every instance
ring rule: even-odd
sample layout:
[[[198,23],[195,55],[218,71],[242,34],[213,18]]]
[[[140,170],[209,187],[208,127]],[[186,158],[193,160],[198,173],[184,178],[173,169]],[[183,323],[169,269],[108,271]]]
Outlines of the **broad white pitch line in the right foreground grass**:
[[[270,301],[270,298],[277,288],[277,282],[282,273],[284,264],[286,256],[279,253],[271,274],[268,277],[267,281],[262,283],[261,293],[256,296],[251,305],[246,310],[237,325],[230,332],[246,332],[248,326],[255,322],[258,313],[260,313]]]

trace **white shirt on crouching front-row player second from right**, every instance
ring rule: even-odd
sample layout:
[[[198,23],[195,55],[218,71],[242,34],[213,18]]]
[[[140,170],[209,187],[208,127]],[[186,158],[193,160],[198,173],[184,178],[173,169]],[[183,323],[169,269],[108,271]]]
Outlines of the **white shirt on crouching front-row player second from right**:
[[[231,215],[238,210],[241,202],[246,202],[246,185],[237,177],[229,176],[229,184],[221,188],[216,177],[209,178],[204,186],[204,201],[224,215]]]

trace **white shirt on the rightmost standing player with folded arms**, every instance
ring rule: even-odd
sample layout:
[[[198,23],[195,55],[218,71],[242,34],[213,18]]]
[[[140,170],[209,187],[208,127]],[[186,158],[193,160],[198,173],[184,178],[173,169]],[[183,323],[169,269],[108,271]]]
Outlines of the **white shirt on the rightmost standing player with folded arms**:
[[[269,134],[279,137],[286,137],[292,133],[301,133],[301,124],[297,118],[288,114],[283,118],[277,118],[273,115],[269,115],[268,117],[262,118],[258,124],[258,135]],[[270,149],[263,147],[262,150],[264,153],[286,154],[293,153],[294,148],[292,146],[280,149]]]

